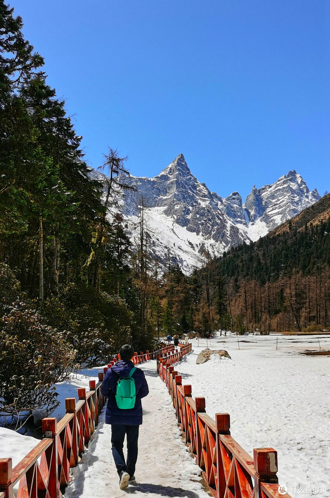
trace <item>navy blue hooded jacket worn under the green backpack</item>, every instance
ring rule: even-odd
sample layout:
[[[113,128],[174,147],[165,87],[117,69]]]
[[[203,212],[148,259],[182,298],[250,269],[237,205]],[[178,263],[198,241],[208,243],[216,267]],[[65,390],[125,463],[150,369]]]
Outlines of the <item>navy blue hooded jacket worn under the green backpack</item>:
[[[149,393],[149,387],[144,376],[144,372],[136,369],[132,374],[135,382],[136,398],[134,408],[122,410],[117,407],[115,392],[117,380],[120,377],[127,377],[134,367],[133,362],[120,360],[108,369],[101,386],[101,392],[108,397],[106,410],[106,424],[141,425],[142,424],[142,404],[141,398]]]

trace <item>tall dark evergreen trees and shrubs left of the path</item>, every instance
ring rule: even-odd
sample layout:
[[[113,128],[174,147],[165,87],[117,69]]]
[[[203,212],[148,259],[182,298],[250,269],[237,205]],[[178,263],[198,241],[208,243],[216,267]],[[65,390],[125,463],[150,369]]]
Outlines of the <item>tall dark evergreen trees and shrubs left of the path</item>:
[[[56,404],[72,368],[155,335],[111,204],[124,159],[110,149],[110,179],[92,174],[22,25],[0,0],[0,399],[16,415]]]

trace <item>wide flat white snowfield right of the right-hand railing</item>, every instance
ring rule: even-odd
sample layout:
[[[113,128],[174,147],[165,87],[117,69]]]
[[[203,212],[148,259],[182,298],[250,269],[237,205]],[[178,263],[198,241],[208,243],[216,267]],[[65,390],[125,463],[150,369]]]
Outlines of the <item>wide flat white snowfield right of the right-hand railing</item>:
[[[279,483],[289,494],[312,496],[306,493],[311,487],[330,497],[330,359],[299,354],[319,349],[315,336],[279,335],[277,351],[276,337],[239,337],[250,342],[240,342],[238,350],[237,337],[227,334],[224,349],[232,360],[211,357],[202,365],[196,358],[206,340],[198,347],[194,339],[178,373],[194,397],[205,396],[208,415],[230,414],[231,435],[250,455],[253,448],[277,450]],[[320,336],[320,343],[330,349],[329,336]],[[212,339],[211,349],[223,349],[223,337]]]

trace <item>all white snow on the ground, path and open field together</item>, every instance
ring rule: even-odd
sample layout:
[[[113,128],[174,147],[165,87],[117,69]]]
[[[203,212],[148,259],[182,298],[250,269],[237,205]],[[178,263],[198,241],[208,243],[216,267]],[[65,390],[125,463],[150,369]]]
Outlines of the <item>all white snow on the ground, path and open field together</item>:
[[[278,350],[276,351],[276,339]],[[228,412],[231,435],[251,455],[253,448],[272,446],[278,452],[279,482],[293,497],[330,497],[329,357],[300,355],[304,350],[330,349],[326,336],[231,336],[224,348],[232,360],[211,357],[196,365],[206,340],[194,339],[193,352],[177,365],[183,383],[191,384],[193,396],[205,396],[211,417]],[[238,343],[239,340],[239,350]],[[198,344],[199,343],[199,344]],[[223,348],[223,336],[208,341],[211,349]],[[188,497],[207,495],[199,483],[200,469],[183,444],[171,398],[156,373],[155,362],[142,368],[150,394],[142,400],[143,425],[139,436],[137,482],[126,491],[118,488],[110,449],[111,430],[104,411],[89,450],[73,470],[74,480],[66,498]],[[76,397],[103,369],[86,369],[58,384],[64,414],[64,398]],[[16,465],[38,440],[0,428],[0,458],[11,457]],[[325,491],[326,488],[326,491]],[[314,490],[314,491],[312,491]]]

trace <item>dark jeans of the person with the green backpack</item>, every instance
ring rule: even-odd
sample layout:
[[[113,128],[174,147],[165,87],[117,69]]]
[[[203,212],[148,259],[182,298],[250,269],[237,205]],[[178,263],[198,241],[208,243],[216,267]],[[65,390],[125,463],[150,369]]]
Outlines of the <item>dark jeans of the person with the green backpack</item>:
[[[122,451],[124,439],[127,439],[127,461],[125,463]],[[137,460],[137,438],[139,437],[138,425],[111,424],[111,449],[118,475],[123,470],[130,476],[134,475]]]

